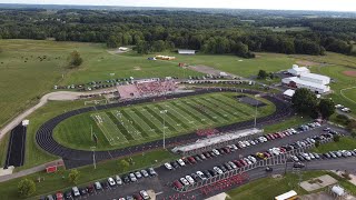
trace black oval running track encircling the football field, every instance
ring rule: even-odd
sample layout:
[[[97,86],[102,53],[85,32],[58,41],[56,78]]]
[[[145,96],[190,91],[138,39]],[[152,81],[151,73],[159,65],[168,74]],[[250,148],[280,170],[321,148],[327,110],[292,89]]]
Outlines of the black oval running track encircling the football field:
[[[209,89],[200,89],[195,92],[189,92],[189,93],[179,93],[179,94],[170,94],[167,96],[166,99],[172,99],[172,98],[180,98],[180,97],[188,97],[188,96],[196,96],[196,94],[202,94],[202,93],[211,93],[211,92],[221,92],[221,91],[233,91],[236,92],[236,89],[234,88],[209,88]],[[240,93],[249,93],[249,94],[257,94],[259,92],[253,91],[253,90],[240,90],[238,91]],[[273,102],[276,106],[276,111],[267,117],[258,118],[257,123],[258,126],[265,126],[268,123],[273,123],[276,121],[279,121],[281,119],[285,119],[291,114],[291,109],[290,106],[280,100],[277,97],[274,96],[263,96],[263,98],[267,99],[268,101]],[[157,99],[157,98],[156,98]],[[162,99],[162,98],[160,98]],[[95,110],[103,110],[103,109],[111,109],[111,108],[117,108],[117,107],[126,107],[129,104],[138,104],[138,103],[144,103],[144,102],[152,102],[155,101],[155,98],[148,98],[148,99],[138,99],[138,100],[132,100],[132,101],[127,101],[127,102],[119,102],[119,103],[112,103],[112,104],[105,104],[105,106],[98,106],[98,107],[88,107],[88,108],[82,108],[82,109],[77,109],[72,110],[66,113],[62,113],[60,116],[57,116],[47,122],[44,122],[40,129],[37,131],[36,134],[36,141],[40,148],[42,148],[44,151],[61,157],[65,161],[66,168],[71,169],[71,168],[77,168],[86,164],[90,164],[92,162],[92,152],[91,151],[86,151],[86,150],[77,150],[77,149],[71,149],[68,147],[63,147],[60,143],[58,143],[53,137],[53,129],[56,126],[58,126],[61,121],[77,116],[85,112],[89,111],[95,111]],[[248,121],[243,121],[238,123],[233,123],[229,126],[224,126],[217,128],[220,132],[225,131],[230,131],[230,130],[238,130],[238,129],[246,129],[250,128],[254,126],[254,120],[248,120]],[[199,137],[195,133],[189,133],[189,134],[184,134],[184,136],[178,136],[174,138],[166,139],[166,146],[167,147],[172,147],[177,146],[179,143],[187,143],[191,141],[196,141]],[[128,147],[123,149],[117,149],[117,150],[108,150],[108,151],[96,151],[96,160],[101,161],[101,160],[108,160],[112,158],[118,158],[118,157],[123,157],[127,154],[132,154],[132,153],[138,153],[142,152],[146,150],[151,150],[151,149],[157,149],[161,148],[162,142],[160,140],[135,146],[135,147]]]

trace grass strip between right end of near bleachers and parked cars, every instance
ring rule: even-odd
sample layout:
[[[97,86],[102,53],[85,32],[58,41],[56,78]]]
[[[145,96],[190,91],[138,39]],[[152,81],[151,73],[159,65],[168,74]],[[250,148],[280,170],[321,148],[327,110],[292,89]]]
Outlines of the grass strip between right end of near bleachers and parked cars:
[[[303,123],[310,122],[310,120],[312,119],[309,117],[294,116],[286,120],[281,120],[279,123],[266,126],[264,127],[264,130],[265,133],[276,132],[288,128],[296,128]]]

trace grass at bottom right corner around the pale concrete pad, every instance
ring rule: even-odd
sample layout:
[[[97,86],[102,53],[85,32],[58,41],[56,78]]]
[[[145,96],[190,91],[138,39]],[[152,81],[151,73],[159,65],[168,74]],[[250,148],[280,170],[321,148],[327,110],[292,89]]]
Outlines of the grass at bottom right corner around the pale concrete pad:
[[[312,178],[320,177],[323,174],[329,174],[337,179],[339,183],[349,190],[356,192],[356,187],[347,182],[347,180],[339,178],[335,173],[328,171],[307,171],[303,173],[303,180],[309,180]],[[274,199],[275,197],[295,190],[298,196],[307,194],[308,192],[298,187],[298,176],[294,173],[287,173],[283,178],[264,178],[250,183],[238,187],[237,189],[228,191],[230,198],[227,199],[254,199],[265,200]]]

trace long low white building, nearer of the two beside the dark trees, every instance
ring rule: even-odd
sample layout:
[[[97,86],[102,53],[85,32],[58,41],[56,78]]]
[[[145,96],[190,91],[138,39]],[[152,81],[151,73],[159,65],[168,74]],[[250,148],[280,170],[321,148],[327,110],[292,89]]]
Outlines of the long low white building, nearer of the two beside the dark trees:
[[[298,77],[289,77],[289,78],[281,79],[281,83],[290,88],[307,88],[315,93],[326,93],[330,91],[329,86],[306,81]]]

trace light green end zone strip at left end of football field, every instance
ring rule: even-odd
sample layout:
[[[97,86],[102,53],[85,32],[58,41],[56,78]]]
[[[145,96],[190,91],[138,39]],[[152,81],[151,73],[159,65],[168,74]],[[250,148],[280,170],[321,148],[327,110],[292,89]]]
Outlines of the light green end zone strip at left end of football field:
[[[128,142],[125,136],[106,113],[93,113],[91,114],[91,118],[97,122],[110,146],[118,146]]]

